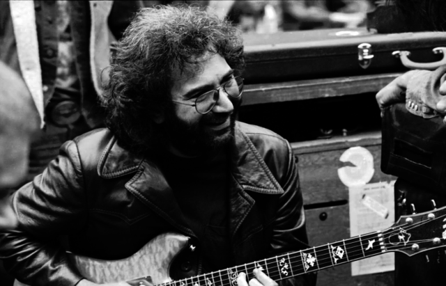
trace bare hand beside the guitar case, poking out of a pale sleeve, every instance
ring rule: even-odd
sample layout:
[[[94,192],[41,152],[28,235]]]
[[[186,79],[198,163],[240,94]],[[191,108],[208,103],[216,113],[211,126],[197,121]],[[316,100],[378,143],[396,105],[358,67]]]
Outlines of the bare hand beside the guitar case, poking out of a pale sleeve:
[[[411,70],[394,79],[390,84],[387,84],[382,90],[376,94],[376,102],[381,109],[381,117],[385,107],[397,102],[406,101],[406,88],[410,79],[417,73],[417,70]],[[446,91],[446,86],[445,86]],[[446,106],[445,106],[446,108]]]

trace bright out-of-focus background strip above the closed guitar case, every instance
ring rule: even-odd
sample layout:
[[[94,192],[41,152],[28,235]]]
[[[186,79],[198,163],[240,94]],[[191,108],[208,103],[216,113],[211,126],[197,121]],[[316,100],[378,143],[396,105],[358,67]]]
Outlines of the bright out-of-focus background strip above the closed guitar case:
[[[380,1],[372,0],[263,0],[263,1],[144,1],[144,6],[194,3],[215,9],[220,17],[238,24],[245,33],[275,33],[365,26],[366,13]]]

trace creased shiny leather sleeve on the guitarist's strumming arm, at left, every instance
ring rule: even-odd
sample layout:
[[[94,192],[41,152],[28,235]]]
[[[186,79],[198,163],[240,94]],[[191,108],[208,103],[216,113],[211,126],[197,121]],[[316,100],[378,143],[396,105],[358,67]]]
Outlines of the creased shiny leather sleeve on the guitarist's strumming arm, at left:
[[[17,280],[33,286],[76,285],[80,273],[59,239],[86,221],[86,196],[74,142],[65,143],[43,174],[13,195],[19,225],[1,232],[0,258]]]

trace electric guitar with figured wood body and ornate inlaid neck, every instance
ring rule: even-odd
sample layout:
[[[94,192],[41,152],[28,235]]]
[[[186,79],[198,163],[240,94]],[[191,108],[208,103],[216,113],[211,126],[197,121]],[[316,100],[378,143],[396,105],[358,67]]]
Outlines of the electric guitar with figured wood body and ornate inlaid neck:
[[[431,212],[401,216],[397,223],[383,231],[181,280],[169,277],[169,267],[174,257],[190,246],[187,237],[175,233],[155,237],[140,251],[123,260],[95,260],[76,255],[71,258],[82,275],[95,283],[128,281],[134,286],[237,286],[238,273],[245,272],[252,278],[254,268],[278,281],[390,251],[413,256],[445,245],[446,207],[442,207]],[[15,286],[19,285],[24,284],[16,280]]]

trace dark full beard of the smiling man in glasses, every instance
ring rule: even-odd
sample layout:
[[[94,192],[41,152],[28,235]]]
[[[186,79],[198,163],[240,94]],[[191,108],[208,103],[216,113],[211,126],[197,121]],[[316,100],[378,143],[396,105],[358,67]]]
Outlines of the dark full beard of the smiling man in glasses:
[[[234,139],[236,110],[231,114],[229,127],[222,130],[205,128],[206,122],[218,121],[218,117],[220,116],[210,112],[205,114],[197,124],[188,125],[171,113],[162,123],[162,138],[164,138],[162,141],[171,143],[183,154],[203,154],[224,148]],[[164,148],[166,146],[164,145]]]

